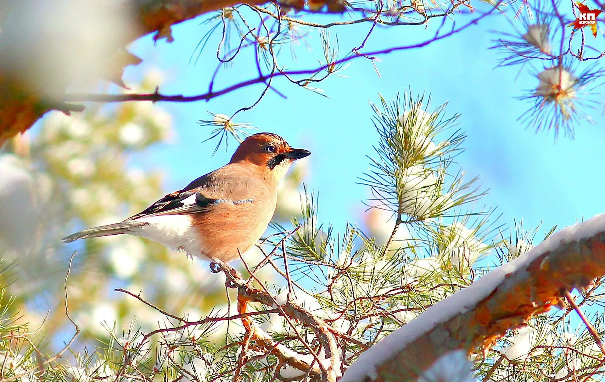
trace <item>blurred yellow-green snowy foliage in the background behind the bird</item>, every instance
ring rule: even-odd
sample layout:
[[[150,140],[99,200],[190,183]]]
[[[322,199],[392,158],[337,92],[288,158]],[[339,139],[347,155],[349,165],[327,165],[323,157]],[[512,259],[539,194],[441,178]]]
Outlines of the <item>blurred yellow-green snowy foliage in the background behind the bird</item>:
[[[153,91],[160,77],[152,71],[131,88]],[[11,139],[0,151],[0,248],[11,264],[2,273],[3,285],[15,296],[15,323],[42,327],[47,352],[62,348],[71,327],[63,304],[72,251],[69,309],[82,329],[77,348],[99,345],[95,338],[107,342],[108,329],[118,335],[131,326],[148,332],[166,319],[114,288],[143,291],[149,301],[191,320],[226,311],[224,278],[210,276],[208,264],[197,258],[131,236],[71,246],[58,241],[71,231],[134,215],[171,192],[162,188],[162,172],[132,166],[129,157],[172,134],[168,112],[151,102],[127,102],[71,117],[52,112],[38,131]],[[284,182],[276,218],[301,213],[298,189],[305,173],[297,167]],[[253,248],[247,256],[261,254]],[[212,335],[221,337],[224,329]]]

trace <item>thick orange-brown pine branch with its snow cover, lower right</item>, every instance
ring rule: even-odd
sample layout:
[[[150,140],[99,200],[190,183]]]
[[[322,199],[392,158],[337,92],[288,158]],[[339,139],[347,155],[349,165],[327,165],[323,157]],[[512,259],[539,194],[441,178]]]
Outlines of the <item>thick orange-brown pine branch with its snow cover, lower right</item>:
[[[605,274],[605,214],[550,236],[364,352],[340,382],[408,381],[446,352],[488,349],[508,329]],[[420,356],[421,355],[421,356]]]

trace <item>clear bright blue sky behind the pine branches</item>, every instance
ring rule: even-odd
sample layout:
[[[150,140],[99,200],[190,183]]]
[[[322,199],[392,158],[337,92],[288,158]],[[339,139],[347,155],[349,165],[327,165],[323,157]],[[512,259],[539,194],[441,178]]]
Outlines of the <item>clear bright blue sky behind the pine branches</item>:
[[[140,76],[146,68],[155,67],[165,74],[166,81],[160,88],[165,94],[206,92],[209,73],[215,68],[216,39],[198,63],[189,63],[195,46],[208,31],[208,25],[200,25],[203,19],[174,27],[171,44],[160,41],[154,45],[150,37],[137,41],[132,51],[144,63],[129,68],[126,77]],[[332,31],[338,34],[341,56],[359,45],[369,26]],[[450,115],[462,114],[459,128],[468,138],[466,151],[457,162],[466,178],[479,176],[483,188],[489,189],[478,207],[497,206],[503,214],[500,223],[512,224],[514,218],[523,218],[526,228],[540,221],[545,222],[544,228],[555,224],[561,227],[603,212],[602,106],[592,113],[595,125],[583,122],[576,126],[573,141],[560,137],[555,143],[552,133],[526,130],[517,117],[529,105],[514,97],[521,96],[523,89],[535,88],[537,79],[526,70],[519,73],[518,67],[495,68],[497,52],[488,49],[495,37],[489,30],[508,28],[502,17],[486,18],[427,47],[382,56],[377,63],[380,77],[369,60],[353,60],[342,73],[347,77],[332,77],[318,85],[329,99],[278,81],[276,88],[287,99],[269,92],[260,105],[239,114],[235,121],[275,132],[292,146],[312,151],[307,183],[320,193],[320,220],[332,222],[336,228],[343,227],[347,220],[361,221],[364,207],[360,201],[368,196],[367,187],[356,184],[358,176],[368,169],[365,155],[373,154],[371,146],[377,141],[368,101],[378,102],[379,93],[391,99],[408,88],[415,94],[431,93],[434,106],[449,102],[446,110]],[[292,65],[313,66],[309,56],[321,55],[318,34],[311,33],[309,42],[314,51],[299,47],[301,62]],[[376,31],[366,46],[374,50],[409,44],[427,39],[431,33],[431,28],[424,27],[385,28]],[[232,68],[221,72],[219,84],[254,76],[250,58],[239,57]],[[214,143],[201,143],[210,129],[198,126],[196,121],[209,118],[207,110],[230,114],[247,106],[260,89],[246,88],[208,103],[161,103],[174,116],[177,135],[171,143],[152,147],[133,158],[134,163],[165,169],[166,190],[179,189],[221,166],[229,160],[235,144],[211,158]],[[601,94],[598,97],[602,103]]]

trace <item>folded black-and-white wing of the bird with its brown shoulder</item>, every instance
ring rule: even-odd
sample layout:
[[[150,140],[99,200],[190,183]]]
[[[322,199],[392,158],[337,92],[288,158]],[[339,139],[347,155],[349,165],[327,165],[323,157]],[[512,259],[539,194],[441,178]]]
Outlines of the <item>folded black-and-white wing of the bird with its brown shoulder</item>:
[[[204,213],[223,203],[237,206],[254,202],[255,190],[265,187],[263,181],[250,176],[249,172],[242,172],[237,168],[225,170],[225,167],[200,176],[184,189],[164,196],[146,210],[126,220],[158,215]]]

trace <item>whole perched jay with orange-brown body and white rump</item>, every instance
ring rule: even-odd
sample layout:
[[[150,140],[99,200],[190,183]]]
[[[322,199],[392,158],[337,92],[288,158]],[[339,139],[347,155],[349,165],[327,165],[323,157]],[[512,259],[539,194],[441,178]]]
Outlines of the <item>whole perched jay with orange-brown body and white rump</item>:
[[[277,188],[293,161],[311,154],[279,135],[244,140],[231,161],[169,193],[125,221],[89,228],[62,240],[128,234],[160,242],[188,256],[233,261],[258,242],[271,221]]]

